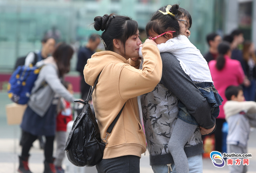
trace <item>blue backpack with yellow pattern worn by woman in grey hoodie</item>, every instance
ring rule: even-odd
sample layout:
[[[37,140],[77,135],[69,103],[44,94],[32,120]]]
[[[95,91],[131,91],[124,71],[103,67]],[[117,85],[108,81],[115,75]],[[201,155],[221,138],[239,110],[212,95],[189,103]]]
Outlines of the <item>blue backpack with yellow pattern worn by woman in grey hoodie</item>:
[[[8,96],[13,102],[25,105],[29,101],[32,88],[41,68],[42,66],[30,67],[25,65],[17,67],[8,83]]]

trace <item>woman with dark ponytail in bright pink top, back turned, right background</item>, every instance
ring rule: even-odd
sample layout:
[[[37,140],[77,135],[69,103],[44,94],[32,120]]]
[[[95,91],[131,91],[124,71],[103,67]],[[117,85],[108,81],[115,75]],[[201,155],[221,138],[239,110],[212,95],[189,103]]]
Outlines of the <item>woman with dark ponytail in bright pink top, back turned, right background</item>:
[[[230,85],[241,85],[244,82],[244,71],[241,63],[238,60],[232,60],[230,44],[227,42],[218,45],[219,56],[217,60],[212,60],[208,63],[212,75],[212,81],[215,88],[223,98],[222,105],[220,105],[220,113],[216,118],[215,130],[215,150],[222,152],[222,125],[225,122],[225,114],[223,105],[227,102],[225,90]]]

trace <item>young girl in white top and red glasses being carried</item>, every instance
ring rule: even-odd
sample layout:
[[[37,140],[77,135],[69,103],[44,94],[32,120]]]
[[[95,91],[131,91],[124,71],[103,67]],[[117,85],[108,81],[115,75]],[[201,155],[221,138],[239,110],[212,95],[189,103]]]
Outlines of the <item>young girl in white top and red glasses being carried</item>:
[[[185,28],[189,28],[189,23],[175,18],[175,15],[182,15],[179,14],[178,8],[178,5],[168,5],[157,11],[146,26],[146,33],[149,39],[157,43],[160,52],[169,52],[179,60],[183,71],[209,102],[212,119],[215,119],[223,99],[213,85],[209,67],[200,51],[185,35],[180,35],[180,26],[185,25]],[[142,57],[141,49],[139,55]],[[173,128],[168,149],[174,159],[177,173],[189,173],[184,145],[195,132],[198,123],[182,102],[179,101],[178,107],[180,108],[178,119]]]

